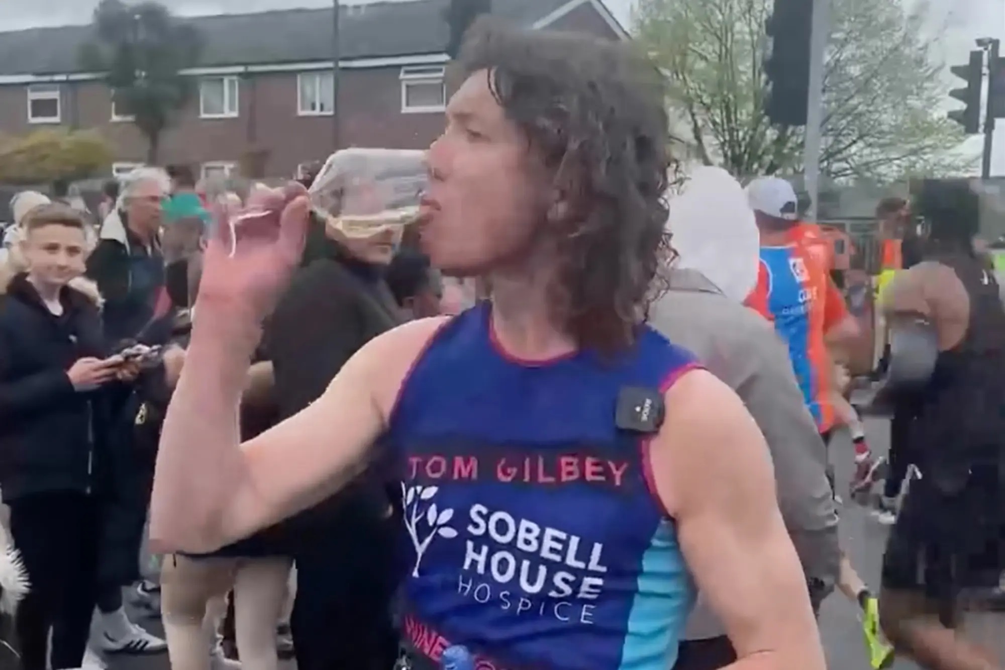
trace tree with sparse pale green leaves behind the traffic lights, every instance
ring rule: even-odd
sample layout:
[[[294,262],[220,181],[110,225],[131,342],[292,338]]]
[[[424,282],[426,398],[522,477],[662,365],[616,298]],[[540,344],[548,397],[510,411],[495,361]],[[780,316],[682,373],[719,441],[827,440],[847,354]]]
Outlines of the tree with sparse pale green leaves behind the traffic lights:
[[[833,179],[958,173],[975,162],[942,111],[949,87],[925,36],[927,8],[904,4],[833,0],[821,128],[821,170]],[[771,5],[639,0],[635,14],[638,40],[666,73],[668,108],[697,158],[738,176],[803,167],[803,131],[772,127],[764,112]]]

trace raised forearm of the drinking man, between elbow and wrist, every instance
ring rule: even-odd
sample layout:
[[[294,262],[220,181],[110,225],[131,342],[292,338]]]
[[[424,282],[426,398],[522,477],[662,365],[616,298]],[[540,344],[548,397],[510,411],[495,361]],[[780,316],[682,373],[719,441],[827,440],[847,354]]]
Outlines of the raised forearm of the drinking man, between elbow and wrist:
[[[245,477],[237,409],[258,329],[201,313],[164,421],[151,500],[161,551],[214,548]]]

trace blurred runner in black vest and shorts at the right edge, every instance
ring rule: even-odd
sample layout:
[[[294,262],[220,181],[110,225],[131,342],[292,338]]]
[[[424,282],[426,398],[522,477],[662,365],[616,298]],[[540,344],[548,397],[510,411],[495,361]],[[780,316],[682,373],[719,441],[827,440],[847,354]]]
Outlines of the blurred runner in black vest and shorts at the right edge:
[[[897,274],[882,305],[889,392],[919,395],[910,438],[921,478],[886,545],[880,619],[923,668],[992,670],[1002,659],[949,629],[962,592],[994,588],[1005,569],[1005,309],[974,252],[970,183],[923,182],[920,205],[926,260]]]

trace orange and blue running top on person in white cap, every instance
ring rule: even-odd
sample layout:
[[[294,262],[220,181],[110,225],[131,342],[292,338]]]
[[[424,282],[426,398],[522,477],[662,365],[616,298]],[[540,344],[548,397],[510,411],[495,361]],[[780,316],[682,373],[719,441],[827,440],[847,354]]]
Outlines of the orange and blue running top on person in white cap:
[[[844,297],[811,244],[762,246],[758,282],[747,305],[775,324],[821,433],[834,425],[832,363],[825,335],[848,316]]]

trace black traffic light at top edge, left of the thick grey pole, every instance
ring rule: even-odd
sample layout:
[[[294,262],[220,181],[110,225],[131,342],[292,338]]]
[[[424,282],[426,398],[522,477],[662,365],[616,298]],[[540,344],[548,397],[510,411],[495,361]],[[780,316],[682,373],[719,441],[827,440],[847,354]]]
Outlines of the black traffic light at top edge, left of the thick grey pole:
[[[768,78],[765,112],[773,124],[805,126],[813,2],[775,0],[775,9],[766,28],[771,50],[764,63]]]

